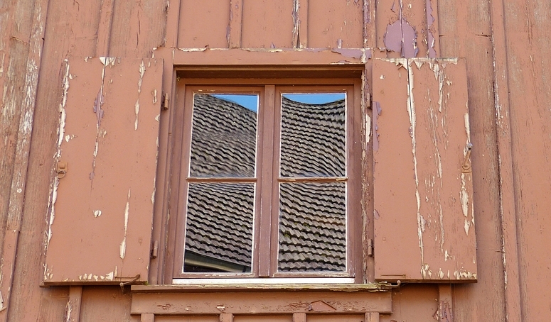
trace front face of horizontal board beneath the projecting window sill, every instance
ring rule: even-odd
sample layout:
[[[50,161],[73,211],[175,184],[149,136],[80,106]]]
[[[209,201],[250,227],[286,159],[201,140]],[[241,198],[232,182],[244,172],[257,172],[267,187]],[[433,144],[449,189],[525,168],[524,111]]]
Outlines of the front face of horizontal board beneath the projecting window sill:
[[[131,313],[390,313],[391,301],[390,292],[134,293]]]

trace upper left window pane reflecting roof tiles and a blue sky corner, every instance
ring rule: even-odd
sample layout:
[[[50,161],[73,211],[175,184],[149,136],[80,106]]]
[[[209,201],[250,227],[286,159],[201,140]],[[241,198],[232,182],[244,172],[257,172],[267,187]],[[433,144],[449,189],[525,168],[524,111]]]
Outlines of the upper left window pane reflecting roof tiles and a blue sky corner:
[[[190,177],[255,177],[257,94],[194,94]]]

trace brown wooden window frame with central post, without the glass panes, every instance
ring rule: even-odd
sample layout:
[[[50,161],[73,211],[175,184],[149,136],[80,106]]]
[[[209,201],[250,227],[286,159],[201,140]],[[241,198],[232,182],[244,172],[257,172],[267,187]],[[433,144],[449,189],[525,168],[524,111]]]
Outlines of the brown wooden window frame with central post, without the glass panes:
[[[256,179],[245,181],[256,182],[255,220],[252,248],[252,273],[182,273],[183,251],[185,244],[185,209],[187,202],[188,182],[235,182],[235,179],[194,179],[188,178],[189,153],[191,146],[191,119],[193,92],[229,92],[239,94],[259,94],[259,119],[257,120],[257,164]],[[279,136],[282,92],[336,92],[346,93],[346,272],[277,272],[278,229],[279,229]],[[176,223],[168,229],[168,248],[166,256],[166,274],[172,279],[256,279],[270,278],[311,278],[328,279],[343,277],[353,279],[355,283],[363,282],[363,252],[362,252],[362,187],[361,187],[361,80],[356,78],[184,78],[176,79],[175,111],[173,111],[173,154],[171,156],[171,197],[169,207]],[[272,117],[270,117],[271,115]],[[278,122],[276,122],[278,121]],[[275,139],[266,139],[275,138]],[[266,147],[265,143],[271,143]],[[264,147],[264,148],[262,148]],[[273,157],[272,157],[273,155]],[[270,159],[270,162],[266,160]],[[326,178],[318,180],[328,181]],[[307,182],[318,181],[309,178]],[[333,179],[330,179],[331,181]],[[245,182],[238,179],[239,182]],[[264,183],[263,183],[264,182]],[[267,183],[266,183],[267,182]],[[260,195],[259,195],[260,191]],[[270,198],[265,198],[270,196]],[[275,205],[275,206],[272,206]],[[271,210],[268,210],[271,209]],[[269,212],[269,214],[266,214]],[[181,232],[181,233],[178,233]],[[269,254],[260,251],[260,245],[270,245]],[[335,279],[333,279],[334,281]]]

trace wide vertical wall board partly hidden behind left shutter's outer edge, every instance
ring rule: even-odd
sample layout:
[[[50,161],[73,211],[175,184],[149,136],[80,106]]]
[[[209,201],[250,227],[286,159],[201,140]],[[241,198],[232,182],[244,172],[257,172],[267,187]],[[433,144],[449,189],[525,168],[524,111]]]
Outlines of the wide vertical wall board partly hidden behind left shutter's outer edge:
[[[41,64],[39,76],[41,79],[49,79],[50,82],[38,82],[33,136],[28,159],[25,206],[22,213],[21,235],[18,239],[18,252],[24,252],[27,255],[19,256],[14,267],[12,292],[20,296],[10,306],[9,321],[48,321],[63,318],[67,299],[52,301],[50,294],[53,291],[39,287],[43,278],[43,250],[46,242],[45,211],[48,208],[48,187],[57,136],[55,124],[58,123],[58,105],[61,97],[60,66],[63,58],[70,53],[82,57],[94,55],[95,32],[88,33],[87,30],[82,30],[82,26],[97,29],[97,18],[99,18],[99,15],[94,14],[95,10],[99,12],[100,4],[96,1],[87,1],[85,4],[41,1],[40,4],[46,25],[41,60],[44,63]],[[46,6],[48,6],[47,15],[44,10]],[[67,28],[68,21],[73,21],[73,29]],[[54,82],[53,79],[58,81]],[[30,303],[33,305],[29,305]]]

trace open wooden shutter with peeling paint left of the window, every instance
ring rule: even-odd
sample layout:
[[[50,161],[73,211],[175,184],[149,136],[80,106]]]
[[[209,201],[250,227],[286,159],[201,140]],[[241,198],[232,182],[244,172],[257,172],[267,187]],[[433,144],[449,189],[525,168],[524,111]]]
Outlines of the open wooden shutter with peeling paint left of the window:
[[[147,282],[162,70],[159,59],[65,61],[45,284]]]

